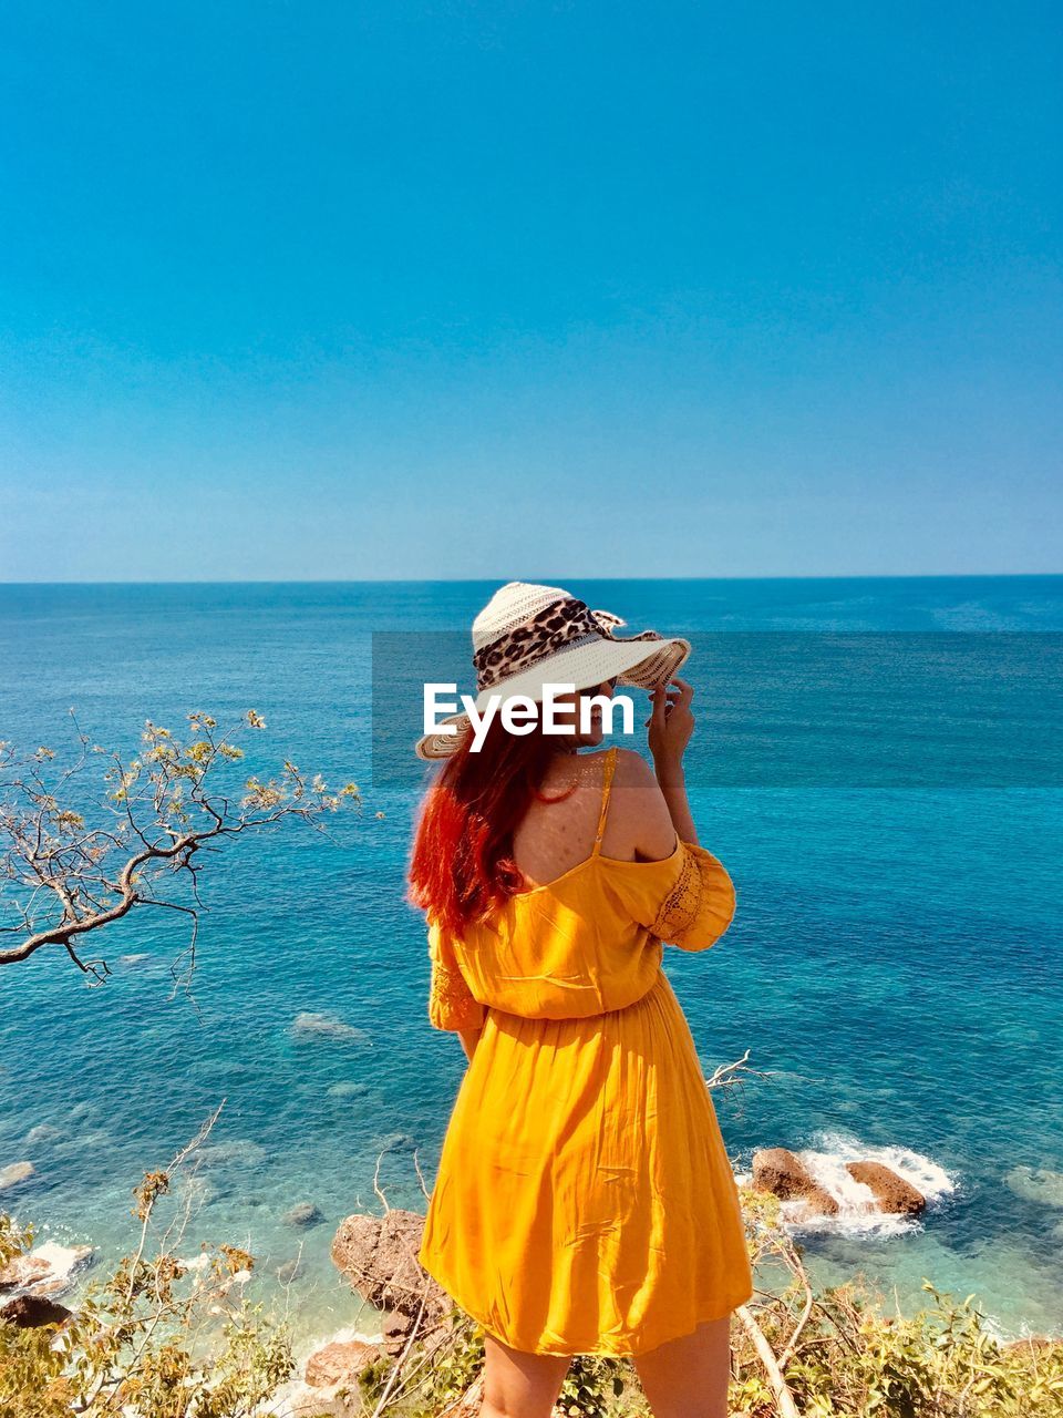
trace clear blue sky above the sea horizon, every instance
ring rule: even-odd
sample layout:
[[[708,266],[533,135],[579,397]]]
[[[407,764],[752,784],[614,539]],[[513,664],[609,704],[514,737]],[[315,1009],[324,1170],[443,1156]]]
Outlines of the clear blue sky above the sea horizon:
[[[1062,35],[9,0],[0,581],[1063,570]]]

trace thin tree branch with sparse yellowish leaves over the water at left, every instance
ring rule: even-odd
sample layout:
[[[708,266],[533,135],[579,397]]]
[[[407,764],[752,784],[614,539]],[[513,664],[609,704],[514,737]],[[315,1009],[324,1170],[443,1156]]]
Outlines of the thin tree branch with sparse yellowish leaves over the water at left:
[[[336,841],[322,818],[342,807],[360,807],[357,784],[332,793],[320,774],[308,777],[288,759],[276,778],[244,781],[234,801],[231,791],[214,790],[215,778],[244,757],[234,742],[237,730],[262,730],[265,720],[248,710],[230,730],[218,730],[206,713],[190,713],[190,736],[180,742],[169,729],[145,720],[140,754],[126,763],[118,752],[91,744],[77,727],[79,750],[58,773],[54,787],[44,769],[55,759],[48,747],[18,757],[0,740],[0,937],[18,937],[0,947],[0,966],[28,960],[44,946],[62,947],[71,961],[103,983],[111,970],[105,960],[84,960],[82,937],[122,920],[135,908],[162,906],[190,919],[190,942],[171,974],[174,991],[190,991],[196,968],[201,854],[217,851],[230,838],[274,828],[299,818]],[[102,803],[94,803],[109,821],[89,827],[82,813],[61,794],[85,797],[84,774],[94,756],[105,754]],[[95,797],[95,791],[92,794]],[[189,885],[194,905],[169,899],[163,882],[179,878]],[[20,891],[28,899],[20,905]],[[13,917],[13,919],[9,919]]]

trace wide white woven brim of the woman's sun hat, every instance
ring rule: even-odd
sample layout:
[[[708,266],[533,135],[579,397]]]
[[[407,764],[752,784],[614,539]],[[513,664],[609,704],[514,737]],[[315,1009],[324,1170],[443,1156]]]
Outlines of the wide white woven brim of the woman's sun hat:
[[[622,685],[652,689],[653,685],[670,679],[686,664],[689,655],[690,641],[675,635],[660,640],[612,640],[608,635],[595,635],[550,655],[520,675],[512,675],[490,689],[483,689],[476,695],[476,712],[483,713],[496,695],[506,699],[523,695],[539,703],[546,685],[571,685],[574,691],[580,691],[591,689],[615,676]],[[454,730],[448,733],[442,725],[454,725]],[[469,716],[465,713],[441,720],[439,730],[418,739],[417,756],[428,760],[449,757],[461,743],[468,725]]]

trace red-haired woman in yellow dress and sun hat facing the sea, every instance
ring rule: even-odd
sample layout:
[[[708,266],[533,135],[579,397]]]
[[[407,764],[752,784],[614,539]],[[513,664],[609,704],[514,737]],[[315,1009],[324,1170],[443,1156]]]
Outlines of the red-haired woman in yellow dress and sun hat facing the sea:
[[[734,889],[683,780],[690,647],[558,587],[510,583],[473,623],[478,710],[574,685],[573,729],[473,752],[465,716],[417,827],[429,1022],[469,1066],[421,1265],[485,1330],[482,1418],[549,1418],[574,1354],[631,1356],[656,1418],[723,1418],[730,1313],[750,1299],[738,1191],[663,942],[706,950]],[[617,685],[649,689],[653,767],[594,749]],[[580,709],[598,698],[592,713]],[[561,700],[558,700],[561,702]],[[583,725],[583,727],[581,727]]]

